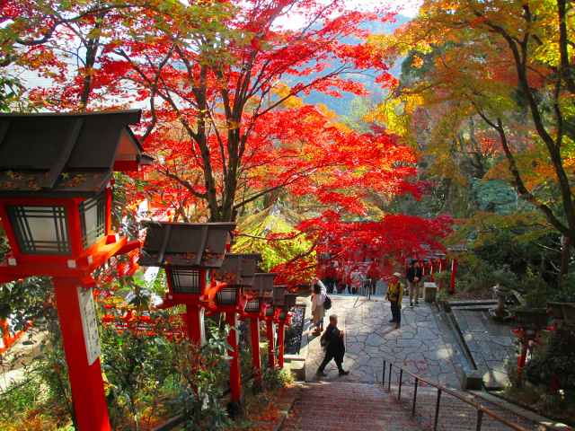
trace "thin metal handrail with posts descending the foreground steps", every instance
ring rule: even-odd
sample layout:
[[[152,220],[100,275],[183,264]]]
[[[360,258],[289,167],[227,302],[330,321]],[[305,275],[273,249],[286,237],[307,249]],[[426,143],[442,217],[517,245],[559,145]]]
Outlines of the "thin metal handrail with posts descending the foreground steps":
[[[433,386],[434,388],[436,388],[438,390],[438,398],[436,400],[436,405],[435,405],[435,418],[433,421],[434,431],[437,431],[437,429],[438,429],[438,419],[439,419],[439,410],[441,408],[440,401],[441,401],[441,394],[442,393],[447,393],[448,395],[451,395],[452,397],[456,398],[457,400],[463,401],[464,403],[472,406],[477,411],[477,419],[475,421],[475,430],[476,431],[480,431],[482,429],[483,414],[491,417],[492,419],[497,420],[501,424],[503,424],[503,425],[505,425],[511,429],[514,429],[516,431],[528,431],[526,428],[521,427],[517,424],[514,424],[513,422],[510,422],[506,418],[501,418],[497,413],[495,413],[491,409],[488,409],[487,407],[485,407],[481,403],[473,401],[473,400],[469,400],[464,395],[457,393],[456,391],[450,390],[449,388],[447,388],[446,386],[443,386],[442,384],[430,382],[428,379],[425,379],[425,378],[421,377],[420,375],[411,373],[411,371],[403,368],[403,366],[394,365],[393,362],[391,362],[385,358],[384,358],[384,369],[383,369],[383,373],[382,373],[382,385],[384,386],[384,388],[385,388],[385,370],[387,368],[387,365],[389,365],[389,378],[387,379],[387,391],[389,391],[390,393],[391,393],[391,387],[392,387],[392,368],[395,366],[395,368],[399,369],[397,400],[401,400],[401,397],[402,397],[403,374],[411,375],[411,377],[413,377],[413,379],[414,379],[413,400],[412,400],[412,405],[411,405],[411,416],[415,416],[415,406],[417,404],[417,388],[418,388],[420,382],[426,383],[429,386]]]

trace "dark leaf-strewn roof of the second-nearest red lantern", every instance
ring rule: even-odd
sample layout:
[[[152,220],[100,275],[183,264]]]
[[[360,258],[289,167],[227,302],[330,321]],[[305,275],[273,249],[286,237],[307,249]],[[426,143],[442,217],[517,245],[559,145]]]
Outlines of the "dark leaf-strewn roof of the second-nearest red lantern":
[[[139,264],[145,267],[220,268],[234,223],[146,221]]]

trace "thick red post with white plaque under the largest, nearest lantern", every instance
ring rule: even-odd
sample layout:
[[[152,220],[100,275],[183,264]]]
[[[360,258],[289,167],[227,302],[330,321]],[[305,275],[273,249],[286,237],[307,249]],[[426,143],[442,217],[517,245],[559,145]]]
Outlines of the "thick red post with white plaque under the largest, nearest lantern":
[[[75,420],[78,431],[109,431],[111,427],[100,357],[94,359],[88,356],[86,345],[89,345],[91,350],[94,345],[84,338],[84,331],[94,334],[94,330],[97,337],[97,328],[93,327],[97,325],[97,321],[87,315],[89,306],[93,307],[91,301],[83,312],[84,304],[80,303],[79,286],[82,286],[80,280],[75,278],[54,278],[57,314],[74,399]],[[89,295],[92,295],[92,291]],[[86,323],[89,328],[84,328]],[[89,364],[89,360],[93,360],[93,363]]]

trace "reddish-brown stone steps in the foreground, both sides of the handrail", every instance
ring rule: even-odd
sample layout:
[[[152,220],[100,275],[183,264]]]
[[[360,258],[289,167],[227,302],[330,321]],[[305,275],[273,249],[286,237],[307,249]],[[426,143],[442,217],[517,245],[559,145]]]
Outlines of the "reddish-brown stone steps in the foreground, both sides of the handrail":
[[[437,403],[437,390],[420,385],[416,414],[411,417],[414,386],[403,384],[401,400],[398,387],[391,392],[381,385],[349,382],[304,383],[293,408],[284,421],[283,431],[414,431],[432,430]],[[500,405],[477,399],[469,392],[465,397],[481,403],[495,415],[509,421],[508,427],[483,414],[482,430],[546,429],[536,418],[526,418]],[[443,392],[440,399],[438,428],[445,431],[476,430],[477,411],[462,400]],[[554,429],[553,427],[547,429]],[[556,428],[555,428],[556,429]],[[564,430],[570,429],[561,428]]]

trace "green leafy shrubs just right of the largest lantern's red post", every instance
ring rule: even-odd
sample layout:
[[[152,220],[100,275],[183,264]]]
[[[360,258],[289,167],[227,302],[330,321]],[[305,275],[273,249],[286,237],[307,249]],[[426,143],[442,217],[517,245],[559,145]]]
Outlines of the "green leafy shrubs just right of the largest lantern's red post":
[[[227,330],[211,328],[207,344],[199,347],[162,335],[175,330],[167,312],[150,317],[152,329],[102,330],[102,369],[110,384],[114,429],[149,427],[178,413],[186,416],[186,429],[222,429],[228,423],[220,401]]]

